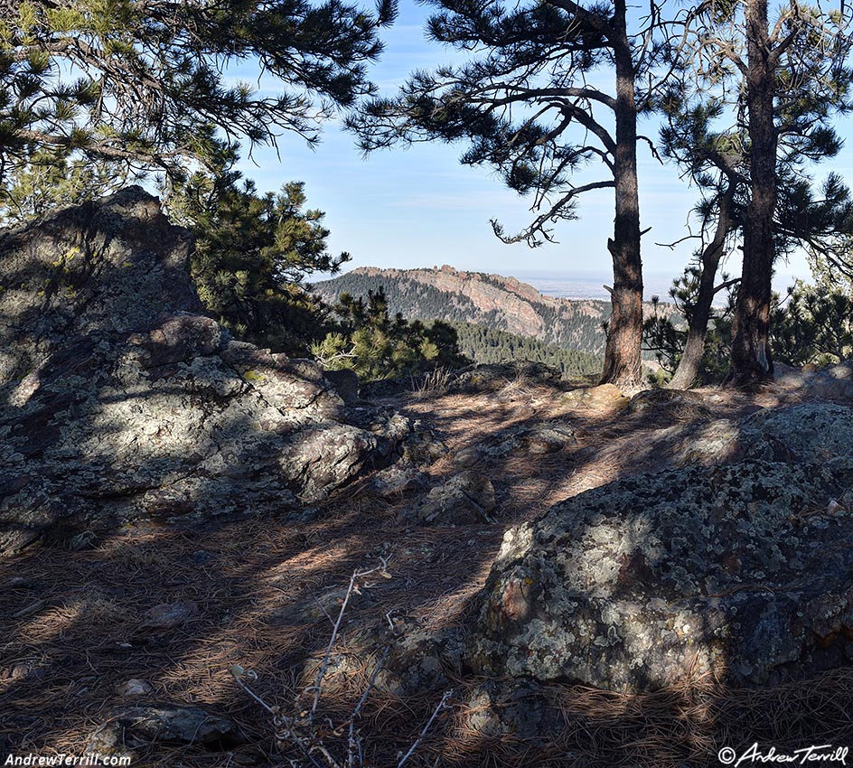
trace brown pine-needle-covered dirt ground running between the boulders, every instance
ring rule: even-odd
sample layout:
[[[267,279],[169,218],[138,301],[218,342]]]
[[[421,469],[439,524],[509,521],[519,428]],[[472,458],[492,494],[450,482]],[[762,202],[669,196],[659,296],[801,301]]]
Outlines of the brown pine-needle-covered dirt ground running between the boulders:
[[[360,627],[383,623],[389,614],[430,632],[464,622],[511,525],[617,477],[661,469],[670,461],[661,446],[684,427],[801,398],[773,387],[757,394],[702,389],[683,402],[633,413],[564,395],[516,381],[481,394],[382,401],[426,419],[445,442],[449,452],[426,469],[436,482],[458,471],[455,456],[464,448],[487,444],[513,426],[548,422],[575,430],[576,442],[563,450],[474,464],[495,489],[493,523],[412,526],[399,514],[411,498],[381,499],[365,478],[316,510],[313,520],[247,515],[195,529],[141,526],[84,551],[42,548],[0,563],[0,755],[83,754],[89,735],[116,707],[136,703],[119,694],[120,684],[144,679],[153,686],[145,701],[229,716],[245,743],[152,744],[136,750],[135,766],[310,765],[277,739],[272,716],[239,687],[230,668],[252,670],[251,689],[267,705],[292,711],[300,692],[305,700],[333,632],[322,611],[300,613],[294,606],[310,606],[335,590],[343,595],[353,570],[385,557],[390,578],[361,580],[369,597],[353,599],[336,642],[336,652],[352,649],[351,666],[361,677],[353,673],[350,684],[323,691],[321,710],[332,720],[328,743],[342,745],[343,764],[346,729],[338,734],[335,727],[352,713],[375,662],[359,656],[353,637]],[[187,622],[168,631],[145,626],[150,608],[178,601],[197,609]],[[477,733],[466,693],[479,682],[454,679],[447,706],[408,765],[687,768],[719,764],[717,750],[744,734],[781,739],[774,742],[780,748],[784,740],[853,739],[851,670],[807,686],[748,693],[701,679],[645,696],[552,686],[544,695],[558,702],[566,729],[549,743]],[[362,764],[397,765],[442,694],[371,694],[360,721]]]

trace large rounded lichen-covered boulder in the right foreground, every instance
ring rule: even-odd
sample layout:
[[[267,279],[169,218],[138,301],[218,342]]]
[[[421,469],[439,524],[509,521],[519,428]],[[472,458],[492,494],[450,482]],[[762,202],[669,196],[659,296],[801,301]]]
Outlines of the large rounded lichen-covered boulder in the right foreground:
[[[853,660],[847,457],[640,475],[504,537],[467,642],[492,676],[660,688],[764,685]]]

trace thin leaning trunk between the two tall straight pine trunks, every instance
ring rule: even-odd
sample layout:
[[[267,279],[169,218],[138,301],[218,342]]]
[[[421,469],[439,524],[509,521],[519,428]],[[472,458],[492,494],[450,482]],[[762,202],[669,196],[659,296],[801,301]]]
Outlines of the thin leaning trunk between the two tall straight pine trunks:
[[[717,294],[714,287],[717,280],[717,268],[720,259],[723,258],[726,237],[734,227],[732,202],[735,199],[735,188],[736,184],[730,182],[726,192],[720,198],[714,239],[702,251],[702,274],[699,277],[696,306],[689,318],[687,340],[684,342],[684,351],[681,354],[679,367],[670,383],[667,384],[667,389],[689,389],[698,376],[699,366],[702,364],[702,357],[705,354],[705,335],[708,332],[711,305],[714,303],[714,296]]]

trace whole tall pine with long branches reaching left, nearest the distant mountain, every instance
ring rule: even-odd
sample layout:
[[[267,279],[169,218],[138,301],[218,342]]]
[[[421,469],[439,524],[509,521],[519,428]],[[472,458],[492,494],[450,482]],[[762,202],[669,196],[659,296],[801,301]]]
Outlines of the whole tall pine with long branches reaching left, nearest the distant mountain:
[[[642,263],[637,189],[638,118],[654,106],[656,73],[670,55],[676,23],[653,5],[642,22],[625,0],[574,0],[506,5],[501,0],[432,0],[438,12],[427,32],[469,60],[413,74],[397,98],[372,102],[350,121],[370,151],[398,140],[465,141],[464,164],[488,164],[511,189],[532,193],[538,212],[507,242],[536,246],[552,239],[550,225],[576,218],[580,195],[614,190],[613,312],[608,323],[604,381],[641,380]],[[679,23],[684,23],[684,14]],[[609,92],[589,75],[606,70]],[[596,77],[598,82],[600,78]],[[611,127],[611,123],[613,127]],[[603,172],[576,183],[589,164]]]

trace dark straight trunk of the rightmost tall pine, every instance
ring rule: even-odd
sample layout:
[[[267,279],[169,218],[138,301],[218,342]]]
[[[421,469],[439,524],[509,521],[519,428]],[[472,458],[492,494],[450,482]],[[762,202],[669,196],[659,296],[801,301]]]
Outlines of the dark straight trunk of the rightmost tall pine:
[[[749,114],[751,198],[744,222],[744,271],[732,325],[735,387],[773,379],[770,355],[773,214],[776,208],[776,128],[773,124],[773,65],[767,0],[746,0],[746,105]]]

